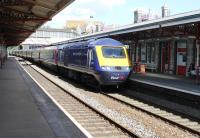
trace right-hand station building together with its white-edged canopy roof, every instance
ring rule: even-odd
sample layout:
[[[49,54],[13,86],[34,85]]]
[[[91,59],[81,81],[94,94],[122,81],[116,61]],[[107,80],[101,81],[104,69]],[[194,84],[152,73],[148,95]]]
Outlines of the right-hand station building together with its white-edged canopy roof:
[[[129,45],[133,65],[188,76],[200,65],[200,10],[134,23],[70,41],[111,37]],[[195,75],[195,74],[194,74]]]

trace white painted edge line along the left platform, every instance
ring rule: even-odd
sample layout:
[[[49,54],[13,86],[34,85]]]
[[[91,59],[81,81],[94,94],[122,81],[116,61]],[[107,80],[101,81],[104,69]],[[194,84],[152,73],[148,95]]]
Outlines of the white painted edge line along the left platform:
[[[85,128],[83,128],[81,126],[81,124],[79,124],[46,90],[44,87],[42,87],[37,80],[35,80],[35,78],[33,78],[31,76],[30,73],[28,73],[28,71],[26,71],[26,69],[19,63],[19,61],[17,60],[18,64],[22,67],[22,69],[31,77],[31,79],[33,79],[33,81],[44,91],[44,93],[60,108],[61,111],[63,111],[63,113],[85,134],[86,137],[88,138],[93,138],[91,136],[91,134],[85,130]]]

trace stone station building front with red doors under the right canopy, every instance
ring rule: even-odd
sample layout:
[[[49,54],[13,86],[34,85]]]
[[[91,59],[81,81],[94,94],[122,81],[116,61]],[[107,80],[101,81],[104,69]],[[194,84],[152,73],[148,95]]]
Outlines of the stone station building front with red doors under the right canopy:
[[[133,49],[133,63],[145,64],[148,71],[187,76],[191,64],[199,66],[194,36],[140,39]]]

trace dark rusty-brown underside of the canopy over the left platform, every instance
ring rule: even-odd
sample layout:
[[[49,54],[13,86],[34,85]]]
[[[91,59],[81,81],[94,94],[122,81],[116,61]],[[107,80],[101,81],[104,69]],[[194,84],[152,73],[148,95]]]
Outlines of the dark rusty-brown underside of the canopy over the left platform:
[[[19,45],[74,0],[1,0],[0,44]]]

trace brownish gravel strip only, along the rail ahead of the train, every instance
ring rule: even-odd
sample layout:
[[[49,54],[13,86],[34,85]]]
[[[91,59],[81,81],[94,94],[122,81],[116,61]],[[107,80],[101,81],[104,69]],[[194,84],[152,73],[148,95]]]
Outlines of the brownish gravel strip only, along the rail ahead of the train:
[[[119,102],[110,100],[110,98],[105,97],[101,94],[90,94],[90,96],[96,98],[101,104],[105,105],[107,108],[112,108],[113,110],[127,116],[131,119],[135,119],[147,128],[151,129],[159,137],[197,137],[187,131],[184,131],[177,126],[171,125],[163,120],[150,116],[137,109],[130,108],[126,105],[122,105]]]

